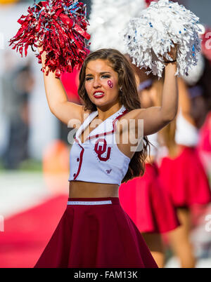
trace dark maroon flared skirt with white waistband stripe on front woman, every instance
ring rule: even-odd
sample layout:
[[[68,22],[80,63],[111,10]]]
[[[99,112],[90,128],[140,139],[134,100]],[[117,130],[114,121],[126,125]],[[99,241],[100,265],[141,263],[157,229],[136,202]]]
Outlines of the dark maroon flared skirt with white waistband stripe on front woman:
[[[118,198],[71,198],[35,267],[158,266]]]

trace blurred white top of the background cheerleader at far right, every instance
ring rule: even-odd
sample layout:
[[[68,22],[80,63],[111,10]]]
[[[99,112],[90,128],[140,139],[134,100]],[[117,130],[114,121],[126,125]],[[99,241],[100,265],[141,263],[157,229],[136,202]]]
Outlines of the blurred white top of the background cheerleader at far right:
[[[179,111],[177,115],[177,127],[175,133],[175,142],[178,145],[195,147],[198,143],[198,129],[188,122]]]

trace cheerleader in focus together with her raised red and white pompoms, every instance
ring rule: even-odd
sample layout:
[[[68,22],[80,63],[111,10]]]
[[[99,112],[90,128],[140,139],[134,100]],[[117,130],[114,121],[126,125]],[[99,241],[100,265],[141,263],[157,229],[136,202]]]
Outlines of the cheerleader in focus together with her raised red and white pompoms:
[[[36,267],[157,267],[139,229],[122,210],[118,189],[122,182],[143,175],[146,136],[177,114],[177,75],[196,63],[200,49],[198,18],[183,6],[160,0],[129,21],[124,44],[132,62],[158,76],[165,72],[161,106],[143,109],[134,71],[124,55],[101,49],[87,57],[85,8],[82,2],[62,2],[34,4],[18,21],[22,27],[11,40],[18,41],[13,48],[20,54],[25,48],[25,55],[28,46],[37,46],[34,35],[41,41],[37,58],[43,65],[49,108],[69,127],[79,126],[70,151],[68,207]],[[116,7],[115,14],[121,14],[120,3],[109,3],[110,11]],[[129,3],[139,11],[135,1]],[[99,11],[106,14],[101,6]],[[78,92],[84,106],[68,102],[58,79],[82,62]],[[134,124],[128,128],[130,121]]]

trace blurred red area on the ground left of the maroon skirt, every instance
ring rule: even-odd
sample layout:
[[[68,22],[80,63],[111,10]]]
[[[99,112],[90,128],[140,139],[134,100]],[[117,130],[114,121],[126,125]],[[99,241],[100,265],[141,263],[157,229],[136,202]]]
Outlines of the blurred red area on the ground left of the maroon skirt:
[[[4,221],[0,267],[34,267],[63,215],[68,195],[56,196]]]

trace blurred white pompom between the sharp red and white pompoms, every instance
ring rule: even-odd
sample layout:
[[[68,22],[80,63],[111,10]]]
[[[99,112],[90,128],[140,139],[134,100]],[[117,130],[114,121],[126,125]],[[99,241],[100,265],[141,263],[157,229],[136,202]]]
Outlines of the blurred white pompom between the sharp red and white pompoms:
[[[144,8],[144,0],[93,0],[88,27],[91,51],[115,48],[124,53],[120,32],[127,27],[129,19],[138,17]]]

